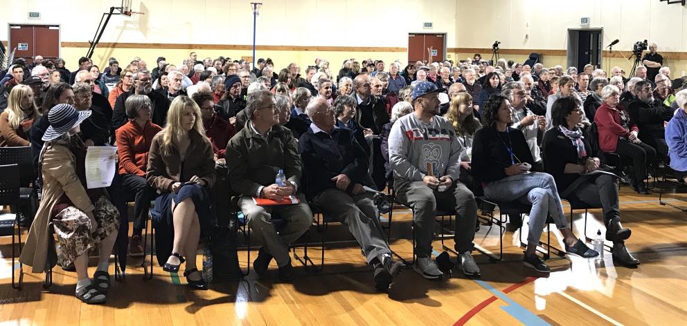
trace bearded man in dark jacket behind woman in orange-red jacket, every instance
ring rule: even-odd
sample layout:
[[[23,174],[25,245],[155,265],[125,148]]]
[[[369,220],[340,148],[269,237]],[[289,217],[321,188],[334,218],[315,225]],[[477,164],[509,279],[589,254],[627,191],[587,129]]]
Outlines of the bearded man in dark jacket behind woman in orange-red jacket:
[[[131,95],[145,95],[152,104],[152,123],[164,127],[167,122],[167,111],[170,108],[170,99],[152,89],[152,79],[148,70],[138,70],[134,74],[134,87],[117,97],[112,114],[112,126],[116,130],[127,123],[125,102]]]

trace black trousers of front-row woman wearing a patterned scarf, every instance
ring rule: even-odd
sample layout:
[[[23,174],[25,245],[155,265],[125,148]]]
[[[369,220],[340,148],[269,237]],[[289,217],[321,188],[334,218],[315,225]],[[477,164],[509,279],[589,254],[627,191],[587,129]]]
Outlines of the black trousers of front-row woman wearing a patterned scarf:
[[[608,224],[613,218],[620,218],[621,211],[618,207],[618,188],[616,177],[613,175],[598,175],[596,178],[582,182],[568,195],[568,200],[583,202],[592,207],[601,207],[603,220]]]

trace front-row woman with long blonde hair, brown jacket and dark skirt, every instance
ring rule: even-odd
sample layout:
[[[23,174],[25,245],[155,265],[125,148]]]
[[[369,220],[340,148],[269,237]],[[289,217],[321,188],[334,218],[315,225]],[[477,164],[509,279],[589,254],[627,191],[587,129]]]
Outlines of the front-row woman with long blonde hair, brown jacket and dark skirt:
[[[196,250],[214,219],[208,191],[215,178],[213,146],[200,108],[188,96],[175,97],[165,128],[152,140],[146,179],[159,193],[151,211],[157,222],[158,262],[166,258],[163,270],[171,272],[186,262],[184,276],[191,289],[207,289],[196,268]]]

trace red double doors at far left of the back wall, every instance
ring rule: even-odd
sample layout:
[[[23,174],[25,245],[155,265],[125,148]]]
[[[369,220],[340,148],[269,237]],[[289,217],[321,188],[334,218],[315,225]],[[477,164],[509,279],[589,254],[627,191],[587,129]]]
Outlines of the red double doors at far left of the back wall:
[[[29,64],[36,55],[57,59],[60,57],[60,26],[10,24],[8,49],[15,48],[15,57],[25,58]]]

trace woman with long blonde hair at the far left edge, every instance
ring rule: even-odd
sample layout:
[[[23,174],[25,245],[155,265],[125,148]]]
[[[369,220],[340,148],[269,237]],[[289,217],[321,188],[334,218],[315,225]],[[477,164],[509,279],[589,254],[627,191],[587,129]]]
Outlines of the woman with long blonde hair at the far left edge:
[[[33,90],[17,85],[10,91],[7,108],[0,114],[0,147],[29,146],[29,130],[39,117]]]

